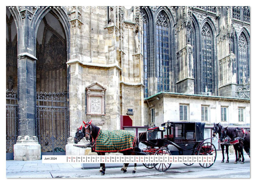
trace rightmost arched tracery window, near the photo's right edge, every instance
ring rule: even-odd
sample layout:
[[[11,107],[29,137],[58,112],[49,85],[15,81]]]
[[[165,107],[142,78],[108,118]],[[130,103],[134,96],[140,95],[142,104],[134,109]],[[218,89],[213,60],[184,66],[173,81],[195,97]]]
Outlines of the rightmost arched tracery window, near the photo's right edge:
[[[238,38],[238,84],[248,82],[249,78],[249,57],[248,41],[242,33]]]

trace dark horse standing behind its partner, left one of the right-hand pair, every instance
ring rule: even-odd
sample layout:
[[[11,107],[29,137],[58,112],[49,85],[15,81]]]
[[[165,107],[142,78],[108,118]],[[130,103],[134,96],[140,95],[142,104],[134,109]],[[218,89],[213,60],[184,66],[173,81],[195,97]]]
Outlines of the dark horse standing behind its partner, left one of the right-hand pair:
[[[223,129],[223,128],[224,127],[220,123],[217,123],[217,124],[214,123],[214,127],[212,128],[212,130],[213,130],[212,136],[215,137],[216,134],[218,134],[219,135],[219,139],[220,139],[221,129]],[[226,154],[227,154],[227,161],[226,161],[226,163],[229,163],[229,156],[228,156],[228,148],[229,148],[229,146],[230,146],[229,143],[225,143],[225,142],[221,142],[220,141],[220,147],[221,147],[221,151],[222,151],[222,161],[221,161],[221,163],[223,163],[224,159],[225,159],[225,157],[224,157],[224,147],[226,147]],[[234,144],[233,146],[234,146],[234,149],[235,149],[235,147],[238,146],[238,145]],[[239,149],[237,148],[235,150],[239,150]],[[239,158],[238,161],[241,161],[241,154],[240,154],[240,152],[238,152],[238,158]]]

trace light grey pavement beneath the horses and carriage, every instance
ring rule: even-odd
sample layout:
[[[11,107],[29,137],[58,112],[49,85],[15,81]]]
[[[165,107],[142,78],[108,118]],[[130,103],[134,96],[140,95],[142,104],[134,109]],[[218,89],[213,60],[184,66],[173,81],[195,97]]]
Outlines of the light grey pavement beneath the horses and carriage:
[[[130,164],[131,167],[128,167],[127,173],[120,171],[120,167],[106,168],[104,176],[98,172],[99,168],[82,169],[80,163],[7,160],[6,178],[250,178],[248,155],[245,155],[244,164],[240,162],[234,164],[234,154],[229,156],[229,163],[221,163],[221,160],[222,155],[218,151],[217,159],[210,168],[202,168],[199,164],[192,166],[172,164],[168,171],[158,172],[154,168],[138,166],[136,173],[132,174],[133,164]]]

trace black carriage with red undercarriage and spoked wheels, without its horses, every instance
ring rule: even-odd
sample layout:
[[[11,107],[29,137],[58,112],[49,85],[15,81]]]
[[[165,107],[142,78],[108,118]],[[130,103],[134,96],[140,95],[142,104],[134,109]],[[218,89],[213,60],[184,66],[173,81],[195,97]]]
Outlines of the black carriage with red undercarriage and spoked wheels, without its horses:
[[[212,155],[216,160],[216,148],[204,139],[205,123],[201,122],[166,122],[160,127],[153,126],[146,132],[139,133],[139,141],[147,146],[143,150],[149,155]],[[208,140],[208,141],[207,141]],[[199,163],[201,167],[211,167],[213,163]],[[187,166],[193,163],[184,163]],[[167,171],[171,163],[144,163],[147,168]]]

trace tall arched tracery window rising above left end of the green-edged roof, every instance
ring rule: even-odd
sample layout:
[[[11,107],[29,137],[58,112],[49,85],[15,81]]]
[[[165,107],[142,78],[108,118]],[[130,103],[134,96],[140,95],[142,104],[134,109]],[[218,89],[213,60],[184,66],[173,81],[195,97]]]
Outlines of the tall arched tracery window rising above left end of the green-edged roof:
[[[167,15],[161,12],[156,22],[157,92],[170,91],[169,81],[169,25]]]

